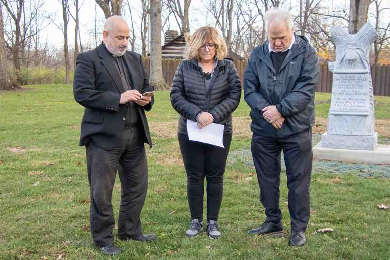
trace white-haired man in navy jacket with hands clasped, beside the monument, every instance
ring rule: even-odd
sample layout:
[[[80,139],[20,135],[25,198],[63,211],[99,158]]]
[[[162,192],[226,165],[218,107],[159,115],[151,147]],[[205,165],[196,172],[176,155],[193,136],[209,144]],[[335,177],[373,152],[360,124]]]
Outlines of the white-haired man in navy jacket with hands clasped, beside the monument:
[[[245,71],[244,97],[251,108],[252,156],[266,220],[250,234],[285,233],[279,208],[280,154],[287,172],[291,246],[306,243],[313,153],[314,93],[318,58],[305,37],[294,34],[288,10],[266,13],[268,40],[253,49]]]

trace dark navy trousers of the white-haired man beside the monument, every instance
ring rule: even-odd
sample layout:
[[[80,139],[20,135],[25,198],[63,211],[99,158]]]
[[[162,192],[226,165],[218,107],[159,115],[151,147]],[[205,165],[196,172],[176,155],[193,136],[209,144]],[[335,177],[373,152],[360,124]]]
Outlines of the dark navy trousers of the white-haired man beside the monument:
[[[266,209],[266,222],[279,222],[280,153],[283,149],[288,187],[291,229],[305,231],[310,217],[309,186],[313,152],[311,128],[285,138],[253,133],[252,156],[260,186],[260,201]]]

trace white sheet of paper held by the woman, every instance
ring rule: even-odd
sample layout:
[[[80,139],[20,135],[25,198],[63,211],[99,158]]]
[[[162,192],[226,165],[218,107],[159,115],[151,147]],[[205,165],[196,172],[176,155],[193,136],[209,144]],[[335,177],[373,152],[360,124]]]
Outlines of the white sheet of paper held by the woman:
[[[223,147],[223,129],[222,124],[211,123],[200,129],[197,122],[187,120],[188,138],[192,141],[198,141],[206,144],[212,144]]]

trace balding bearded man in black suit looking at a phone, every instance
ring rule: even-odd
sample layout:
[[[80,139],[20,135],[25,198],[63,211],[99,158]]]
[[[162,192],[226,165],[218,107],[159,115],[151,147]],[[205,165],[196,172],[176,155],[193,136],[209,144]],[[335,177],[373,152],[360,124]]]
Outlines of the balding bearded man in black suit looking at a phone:
[[[102,44],[77,56],[73,82],[75,100],[85,107],[80,146],[86,146],[91,233],[95,245],[109,255],[121,252],[112,234],[111,197],[117,171],[122,184],[119,239],[157,238],[143,235],[140,221],[148,186],[144,143],[152,147],[145,110],[154,102],[153,96],[141,93],[153,87],[141,56],[126,51],[129,31],[122,17],[108,18]]]

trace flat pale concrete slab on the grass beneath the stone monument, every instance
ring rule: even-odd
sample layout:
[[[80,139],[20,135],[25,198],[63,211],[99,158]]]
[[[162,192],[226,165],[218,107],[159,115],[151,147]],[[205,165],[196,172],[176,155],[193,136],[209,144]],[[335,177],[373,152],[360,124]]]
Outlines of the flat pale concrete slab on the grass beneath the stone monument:
[[[313,148],[315,159],[390,165],[390,145],[377,145],[375,151],[368,151],[323,148],[321,143]]]

